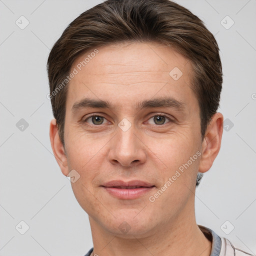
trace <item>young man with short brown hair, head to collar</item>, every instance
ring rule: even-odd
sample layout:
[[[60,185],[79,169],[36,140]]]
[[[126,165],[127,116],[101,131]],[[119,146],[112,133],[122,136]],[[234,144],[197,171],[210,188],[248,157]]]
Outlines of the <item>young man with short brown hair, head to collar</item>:
[[[195,221],[222,136],[218,50],[169,0],[106,0],[54,44],[50,140],[89,215],[86,256],[250,255]]]

